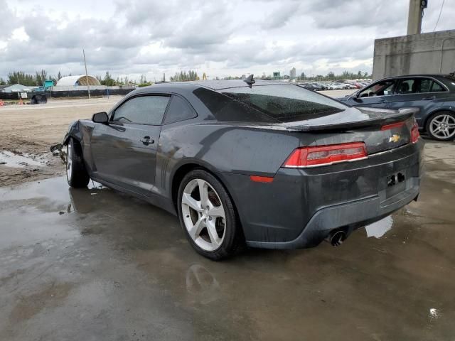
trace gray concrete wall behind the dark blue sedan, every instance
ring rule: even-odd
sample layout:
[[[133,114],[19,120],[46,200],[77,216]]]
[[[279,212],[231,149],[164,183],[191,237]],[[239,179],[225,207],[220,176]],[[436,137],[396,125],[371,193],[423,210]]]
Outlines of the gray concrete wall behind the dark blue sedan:
[[[454,71],[455,30],[375,40],[373,80]]]

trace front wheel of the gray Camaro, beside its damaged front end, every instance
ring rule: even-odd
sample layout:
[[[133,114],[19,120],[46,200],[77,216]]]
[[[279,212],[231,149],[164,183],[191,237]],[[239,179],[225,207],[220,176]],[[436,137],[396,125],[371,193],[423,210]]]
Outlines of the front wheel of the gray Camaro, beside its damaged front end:
[[[72,137],[66,146],[66,180],[73,188],[85,188],[90,181],[82,159],[82,147]]]

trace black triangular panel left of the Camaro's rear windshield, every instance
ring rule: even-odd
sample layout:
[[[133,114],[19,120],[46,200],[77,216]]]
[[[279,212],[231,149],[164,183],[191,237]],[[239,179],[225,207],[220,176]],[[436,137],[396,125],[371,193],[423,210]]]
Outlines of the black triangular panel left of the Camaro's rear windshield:
[[[200,87],[193,94],[210,110],[218,121],[273,123],[276,119],[268,117],[257,109],[230,99],[224,94]]]

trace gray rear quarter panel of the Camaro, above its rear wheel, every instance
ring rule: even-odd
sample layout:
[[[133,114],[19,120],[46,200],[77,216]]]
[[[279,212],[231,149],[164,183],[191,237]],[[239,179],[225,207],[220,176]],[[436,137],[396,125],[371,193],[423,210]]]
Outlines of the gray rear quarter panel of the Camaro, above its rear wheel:
[[[169,190],[179,167],[196,163],[214,173],[273,176],[299,134],[227,124],[171,124],[161,130],[156,180]]]

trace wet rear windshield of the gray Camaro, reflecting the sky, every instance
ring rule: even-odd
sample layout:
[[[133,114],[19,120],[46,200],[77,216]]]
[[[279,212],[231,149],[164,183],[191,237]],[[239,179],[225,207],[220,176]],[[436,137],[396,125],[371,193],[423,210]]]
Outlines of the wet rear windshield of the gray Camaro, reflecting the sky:
[[[262,85],[220,90],[222,94],[281,122],[343,112],[346,106],[296,85]]]

